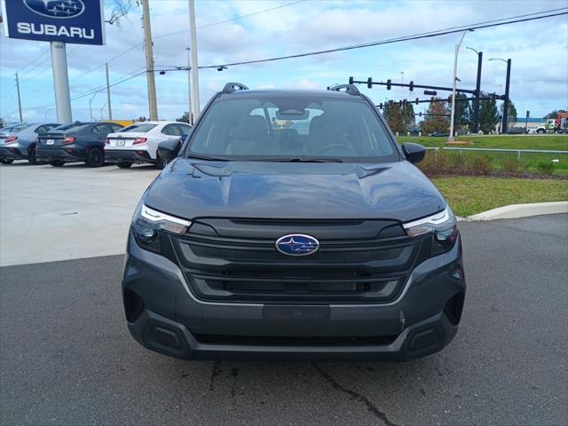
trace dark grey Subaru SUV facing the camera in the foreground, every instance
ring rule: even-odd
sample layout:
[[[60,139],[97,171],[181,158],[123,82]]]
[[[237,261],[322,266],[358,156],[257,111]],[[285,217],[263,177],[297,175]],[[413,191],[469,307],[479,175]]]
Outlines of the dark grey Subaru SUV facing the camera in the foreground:
[[[344,90],[344,91],[343,91]],[[296,125],[308,122],[307,126]],[[138,204],[131,335],[182,359],[415,359],[457,332],[456,219],[353,85],[228,83]]]

